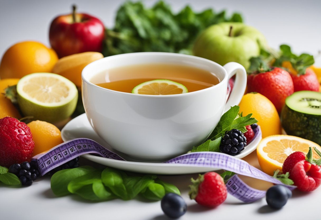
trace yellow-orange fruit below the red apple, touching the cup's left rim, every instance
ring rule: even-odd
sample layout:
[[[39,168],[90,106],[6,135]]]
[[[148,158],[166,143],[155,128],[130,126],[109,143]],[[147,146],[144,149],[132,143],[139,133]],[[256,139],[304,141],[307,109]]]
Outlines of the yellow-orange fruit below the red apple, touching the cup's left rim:
[[[52,72],[69,79],[77,87],[81,87],[82,69],[89,63],[103,57],[99,52],[76,53],[59,59]]]

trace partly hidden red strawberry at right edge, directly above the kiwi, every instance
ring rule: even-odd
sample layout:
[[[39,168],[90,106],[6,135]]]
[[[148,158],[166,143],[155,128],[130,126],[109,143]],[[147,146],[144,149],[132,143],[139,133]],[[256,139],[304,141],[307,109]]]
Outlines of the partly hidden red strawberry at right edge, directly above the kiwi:
[[[307,68],[306,72],[301,75],[292,73],[290,75],[293,80],[294,92],[301,90],[319,91],[320,84],[312,69]]]

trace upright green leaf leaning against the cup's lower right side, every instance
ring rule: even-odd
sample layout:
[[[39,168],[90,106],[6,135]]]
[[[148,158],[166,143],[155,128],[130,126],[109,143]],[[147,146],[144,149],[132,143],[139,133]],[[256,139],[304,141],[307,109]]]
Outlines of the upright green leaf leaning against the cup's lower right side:
[[[240,107],[235,105],[231,107],[227,112],[225,112],[219,121],[219,123],[214,128],[213,132],[210,134],[208,139],[215,140],[218,137],[222,136],[225,131],[229,131],[230,125],[233,123],[234,119],[239,113]]]

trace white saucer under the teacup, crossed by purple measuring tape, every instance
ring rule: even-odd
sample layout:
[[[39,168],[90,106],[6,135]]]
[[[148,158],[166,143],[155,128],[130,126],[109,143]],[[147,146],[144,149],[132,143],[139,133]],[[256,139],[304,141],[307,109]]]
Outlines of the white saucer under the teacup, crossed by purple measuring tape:
[[[127,161],[108,159],[108,158],[103,158],[103,157],[95,156],[91,154],[84,154],[82,155],[82,157],[88,160],[100,163],[102,165],[117,168],[120,170],[126,170],[131,172],[138,172],[138,173],[165,174],[165,175],[202,173],[202,172],[209,172],[213,170],[219,170],[219,169],[213,169],[209,167],[197,167],[197,166],[187,165],[187,164],[141,161],[141,160],[130,158],[125,154],[112,149],[108,145],[108,143],[102,140],[89,124],[86,114],[79,115],[78,117],[68,122],[61,131],[61,137],[64,142],[72,140],[74,138],[89,138],[91,140],[98,142],[100,145],[104,146],[110,151],[117,153],[119,156],[121,156]],[[248,154],[250,154],[252,151],[256,149],[256,146],[261,139],[262,139],[262,135],[260,133],[259,135],[257,135],[255,139],[252,140],[251,143],[249,143],[246,146],[244,151],[242,151],[240,154],[236,155],[235,157],[243,158]]]

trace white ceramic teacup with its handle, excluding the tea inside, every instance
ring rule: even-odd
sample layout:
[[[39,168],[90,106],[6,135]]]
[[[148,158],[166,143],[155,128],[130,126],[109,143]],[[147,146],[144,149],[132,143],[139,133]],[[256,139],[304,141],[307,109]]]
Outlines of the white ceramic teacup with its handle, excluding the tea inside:
[[[119,92],[91,83],[104,70],[149,63],[204,69],[215,73],[220,83],[164,96]],[[228,81],[235,73],[226,102]],[[246,81],[244,67],[235,62],[222,67],[211,60],[177,53],[127,53],[94,61],[83,69],[82,101],[91,126],[112,148],[140,160],[166,160],[204,142],[222,113],[239,104]]]

